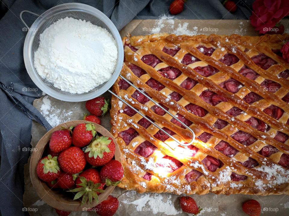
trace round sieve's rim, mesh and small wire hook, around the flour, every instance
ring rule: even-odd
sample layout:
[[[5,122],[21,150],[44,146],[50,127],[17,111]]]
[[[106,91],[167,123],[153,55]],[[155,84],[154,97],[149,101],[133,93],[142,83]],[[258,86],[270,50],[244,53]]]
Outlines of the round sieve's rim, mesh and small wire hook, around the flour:
[[[38,16],[38,18],[33,22],[31,27],[28,27],[27,24],[24,22],[23,13],[31,13]],[[110,79],[107,82],[96,86],[89,92],[82,94],[72,94],[67,91],[61,91],[59,88],[54,87],[53,83],[48,82],[47,79],[39,76],[34,67],[34,53],[39,47],[40,34],[58,19],[65,17],[73,17],[74,19],[82,20],[85,19],[86,21],[89,21],[96,26],[107,29],[107,31],[113,36],[117,44],[117,64]],[[23,10],[20,13],[20,19],[27,28],[27,35],[23,47],[23,57],[26,70],[33,82],[46,94],[62,101],[87,101],[89,99],[98,97],[99,95],[106,92],[117,80],[117,77],[119,76],[120,70],[123,65],[123,44],[117,28],[110,21],[110,19],[105,16],[105,14],[101,11],[86,4],[67,3],[52,7],[41,15],[32,13],[28,10]]]

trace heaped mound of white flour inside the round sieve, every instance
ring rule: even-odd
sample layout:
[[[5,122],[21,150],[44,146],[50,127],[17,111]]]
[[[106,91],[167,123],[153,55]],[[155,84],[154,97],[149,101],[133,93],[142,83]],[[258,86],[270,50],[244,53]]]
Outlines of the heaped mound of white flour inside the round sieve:
[[[34,55],[41,77],[77,94],[108,81],[116,64],[116,42],[106,29],[68,17],[45,29]]]

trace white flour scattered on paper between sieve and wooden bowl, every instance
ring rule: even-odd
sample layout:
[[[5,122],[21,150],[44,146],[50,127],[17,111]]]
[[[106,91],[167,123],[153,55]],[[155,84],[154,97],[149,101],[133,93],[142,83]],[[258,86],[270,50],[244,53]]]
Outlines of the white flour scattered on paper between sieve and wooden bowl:
[[[53,111],[53,113],[51,113],[51,111]],[[56,109],[54,106],[51,106],[51,101],[45,96],[42,99],[40,113],[52,127],[55,127],[63,122],[70,121],[69,116],[72,114],[72,111],[67,112],[66,110]]]

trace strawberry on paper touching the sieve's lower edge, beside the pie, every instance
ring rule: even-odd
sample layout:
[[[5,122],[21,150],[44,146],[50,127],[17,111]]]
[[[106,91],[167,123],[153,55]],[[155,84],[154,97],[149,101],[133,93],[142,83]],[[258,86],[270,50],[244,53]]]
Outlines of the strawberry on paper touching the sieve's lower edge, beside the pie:
[[[107,113],[109,104],[109,99],[105,100],[104,97],[97,97],[86,101],[85,107],[86,109],[95,116],[104,116]]]

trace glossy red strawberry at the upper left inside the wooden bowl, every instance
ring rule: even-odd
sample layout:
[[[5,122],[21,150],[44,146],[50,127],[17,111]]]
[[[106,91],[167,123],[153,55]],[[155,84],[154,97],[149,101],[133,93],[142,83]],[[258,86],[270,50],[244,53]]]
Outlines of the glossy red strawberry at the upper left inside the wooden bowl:
[[[50,137],[49,148],[52,152],[58,153],[67,149],[71,145],[71,141],[70,130],[54,131]]]

